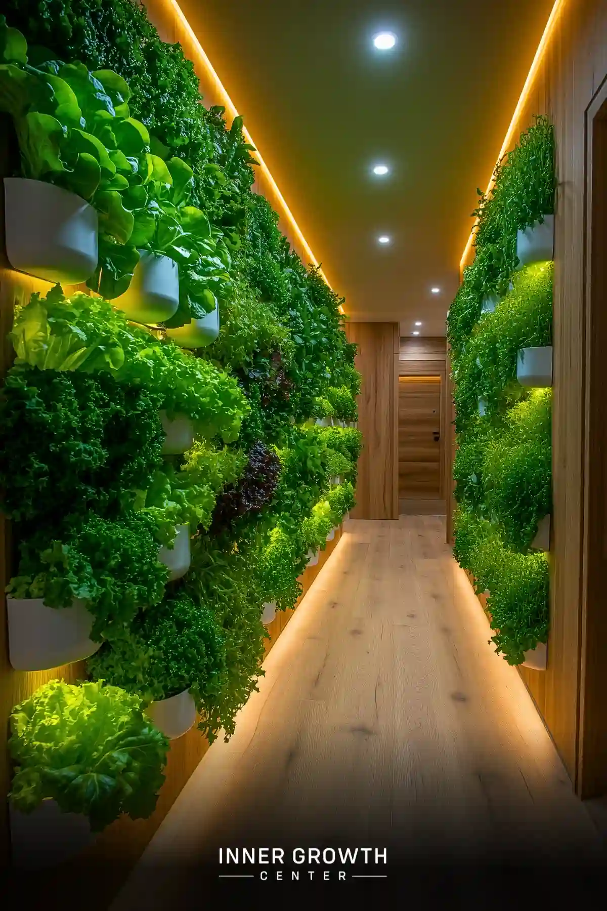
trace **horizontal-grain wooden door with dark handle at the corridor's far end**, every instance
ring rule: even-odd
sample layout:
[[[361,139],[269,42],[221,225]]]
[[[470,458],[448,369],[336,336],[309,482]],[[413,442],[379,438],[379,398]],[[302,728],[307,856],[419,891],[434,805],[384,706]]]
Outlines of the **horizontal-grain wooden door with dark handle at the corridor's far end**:
[[[399,377],[399,499],[440,499],[440,376]]]

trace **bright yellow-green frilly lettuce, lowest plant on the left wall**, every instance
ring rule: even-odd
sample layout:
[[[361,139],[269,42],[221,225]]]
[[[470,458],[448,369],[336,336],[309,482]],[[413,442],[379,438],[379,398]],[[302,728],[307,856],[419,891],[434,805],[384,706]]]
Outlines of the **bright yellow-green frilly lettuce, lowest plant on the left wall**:
[[[52,680],[15,705],[10,724],[17,810],[32,813],[50,798],[64,813],[86,814],[93,832],[120,814],[154,812],[168,741],[138,696],[103,681]]]

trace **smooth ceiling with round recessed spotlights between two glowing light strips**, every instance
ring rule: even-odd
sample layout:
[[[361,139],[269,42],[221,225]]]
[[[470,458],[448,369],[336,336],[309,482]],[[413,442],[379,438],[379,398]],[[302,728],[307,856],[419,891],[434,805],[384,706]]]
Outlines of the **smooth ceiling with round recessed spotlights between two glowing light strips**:
[[[444,333],[476,188],[552,5],[180,0],[351,319]],[[399,40],[381,53],[383,29]]]

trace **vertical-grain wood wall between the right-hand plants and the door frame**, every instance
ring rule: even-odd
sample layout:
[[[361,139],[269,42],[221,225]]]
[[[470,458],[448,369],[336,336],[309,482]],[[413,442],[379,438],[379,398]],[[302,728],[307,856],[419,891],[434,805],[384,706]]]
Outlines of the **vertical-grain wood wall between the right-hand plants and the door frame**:
[[[522,131],[531,125],[534,114],[547,114],[551,118],[559,180],[554,228],[549,660],[545,672],[521,668],[521,677],[578,786],[582,528],[587,446],[584,407],[587,110],[605,77],[607,4],[604,0],[566,0],[518,122],[518,129]]]

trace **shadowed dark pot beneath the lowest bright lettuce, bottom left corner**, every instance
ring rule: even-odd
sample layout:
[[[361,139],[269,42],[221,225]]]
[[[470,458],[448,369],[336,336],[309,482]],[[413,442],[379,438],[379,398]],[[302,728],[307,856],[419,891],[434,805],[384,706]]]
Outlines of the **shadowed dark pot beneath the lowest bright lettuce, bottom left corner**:
[[[11,861],[20,870],[39,870],[62,864],[95,841],[88,816],[62,813],[47,798],[32,813],[21,813],[8,804],[11,827]]]

